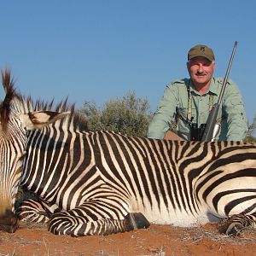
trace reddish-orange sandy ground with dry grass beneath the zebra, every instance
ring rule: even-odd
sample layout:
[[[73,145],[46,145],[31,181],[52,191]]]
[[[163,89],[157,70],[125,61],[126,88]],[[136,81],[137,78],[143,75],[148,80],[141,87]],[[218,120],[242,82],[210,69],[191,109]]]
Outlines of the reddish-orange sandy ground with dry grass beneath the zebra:
[[[3,255],[89,255],[89,256],[177,256],[256,255],[256,231],[245,230],[241,237],[218,234],[217,224],[183,229],[152,224],[110,236],[54,236],[39,224],[20,224],[14,234],[0,231]]]

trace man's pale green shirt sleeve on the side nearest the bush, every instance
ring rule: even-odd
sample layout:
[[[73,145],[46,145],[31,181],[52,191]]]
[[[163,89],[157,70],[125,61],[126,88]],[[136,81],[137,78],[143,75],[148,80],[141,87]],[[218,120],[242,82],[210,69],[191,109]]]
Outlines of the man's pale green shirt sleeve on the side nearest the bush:
[[[170,129],[178,102],[177,85],[168,84],[148,126],[148,137],[162,139]]]

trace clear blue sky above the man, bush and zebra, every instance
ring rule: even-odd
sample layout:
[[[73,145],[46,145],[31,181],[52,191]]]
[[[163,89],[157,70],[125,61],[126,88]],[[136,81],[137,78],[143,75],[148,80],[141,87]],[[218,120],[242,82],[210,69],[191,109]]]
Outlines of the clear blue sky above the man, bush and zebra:
[[[0,67],[26,96],[81,108],[135,91],[152,111],[166,84],[188,77],[195,44],[214,49],[215,76],[230,72],[249,122],[256,113],[256,1],[44,0],[1,4]],[[3,97],[3,90],[0,94]]]

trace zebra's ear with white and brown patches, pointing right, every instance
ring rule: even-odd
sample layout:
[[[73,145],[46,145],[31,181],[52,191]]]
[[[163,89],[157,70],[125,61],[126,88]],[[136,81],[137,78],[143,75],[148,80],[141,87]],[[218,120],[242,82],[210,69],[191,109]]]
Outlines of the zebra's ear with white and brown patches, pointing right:
[[[21,113],[20,120],[27,131],[43,128],[58,119],[66,117],[70,112],[37,111]]]

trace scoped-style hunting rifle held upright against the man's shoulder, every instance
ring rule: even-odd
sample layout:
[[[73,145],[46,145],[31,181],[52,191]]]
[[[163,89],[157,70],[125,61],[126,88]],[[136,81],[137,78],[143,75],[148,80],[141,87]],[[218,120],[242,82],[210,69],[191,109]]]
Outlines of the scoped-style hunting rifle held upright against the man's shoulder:
[[[220,104],[223,100],[224,97],[224,90],[226,89],[226,84],[227,81],[229,79],[229,75],[230,75],[230,68],[232,65],[232,61],[234,59],[234,55],[236,53],[236,47],[237,47],[237,41],[235,42],[231,57],[230,57],[230,62],[229,62],[229,66],[228,69],[226,71],[226,74],[224,76],[224,81],[223,81],[223,86],[220,90],[219,96],[218,96],[218,102],[215,103],[212,106],[211,112],[209,113],[209,116],[207,118],[207,125],[205,128],[205,131],[203,133],[203,136],[201,137],[201,142],[210,142],[212,140],[214,140],[214,138],[217,136],[220,125],[216,124],[216,119],[217,119],[217,115],[218,115],[218,109],[220,107]]]

